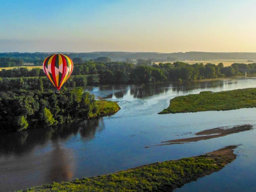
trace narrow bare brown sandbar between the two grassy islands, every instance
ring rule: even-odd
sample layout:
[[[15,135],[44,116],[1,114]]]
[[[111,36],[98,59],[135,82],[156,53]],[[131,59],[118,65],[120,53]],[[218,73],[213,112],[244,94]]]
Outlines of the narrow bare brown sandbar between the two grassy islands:
[[[197,137],[188,137],[188,138],[179,138],[179,139],[174,139],[174,140],[169,140],[169,141],[162,141],[162,144],[159,145],[154,145],[155,146],[163,146],[163,145],[175,145],[175,144],[184,144],[184,143],[190,143],[190,142],[198,142],[202,140],[208,140],[212,138],[217,138],[217,137],[223,137],[226,135],[230,135],[233,133],[239,133],[242,131],[249,131],[253,129],[253,125],[238,125],[234,127],[217,127],[214,129],[206,129],[200,132],[195,133],[195,135],[201,135]],[[149,147],[145,147],[149,148]]]

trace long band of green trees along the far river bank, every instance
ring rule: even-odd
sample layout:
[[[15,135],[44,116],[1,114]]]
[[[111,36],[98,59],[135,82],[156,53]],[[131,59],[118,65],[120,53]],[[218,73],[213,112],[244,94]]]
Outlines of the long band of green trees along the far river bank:
[[[74,64],[72,73],[76,78],[66,82],[66,87],[84,86],[86,78],[79,77],[83,75],[98,74],[100,84],[126,84],[126,83],[154,83],[164,81],[190,81],[200,79],[210,79],[218,77],[231,77],[240,74],[238,68],[256,69],[256,63],[243,64],[234,63],[229,67],[224,67],[222,63],[218,65],[208,63],[188,64],[184,62],[160,63],[159,65],[134,65],[131,63],[96,63],[88,61],[85,63]],[[0,71],[0,77],[45,77],[42,69],[33,68],[14,68]],[[12,81],[10,79],[2,79],[2,81]],[[14,81],[14,80],[13,80]],[[37,80],[23,79],[25,82],[34,82]],[[44,80],[43,80],[44,81]],[[87,78],[90,85],[93,84],[93,77]],[[51,88],[44,81],[43,87]],[[76,85],[74,85],[74,82]],[[28,83],[36,84],[36,83]],[[37,85],[36,85],[37,86]]]

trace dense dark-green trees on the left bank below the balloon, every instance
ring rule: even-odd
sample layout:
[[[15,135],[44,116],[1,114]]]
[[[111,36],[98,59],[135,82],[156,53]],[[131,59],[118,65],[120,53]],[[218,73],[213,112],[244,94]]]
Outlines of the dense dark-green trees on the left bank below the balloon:
[[[82,88],[64,90],[13,90],[0,92],[0,132],[51,126],[100,114],[94,95]]]

